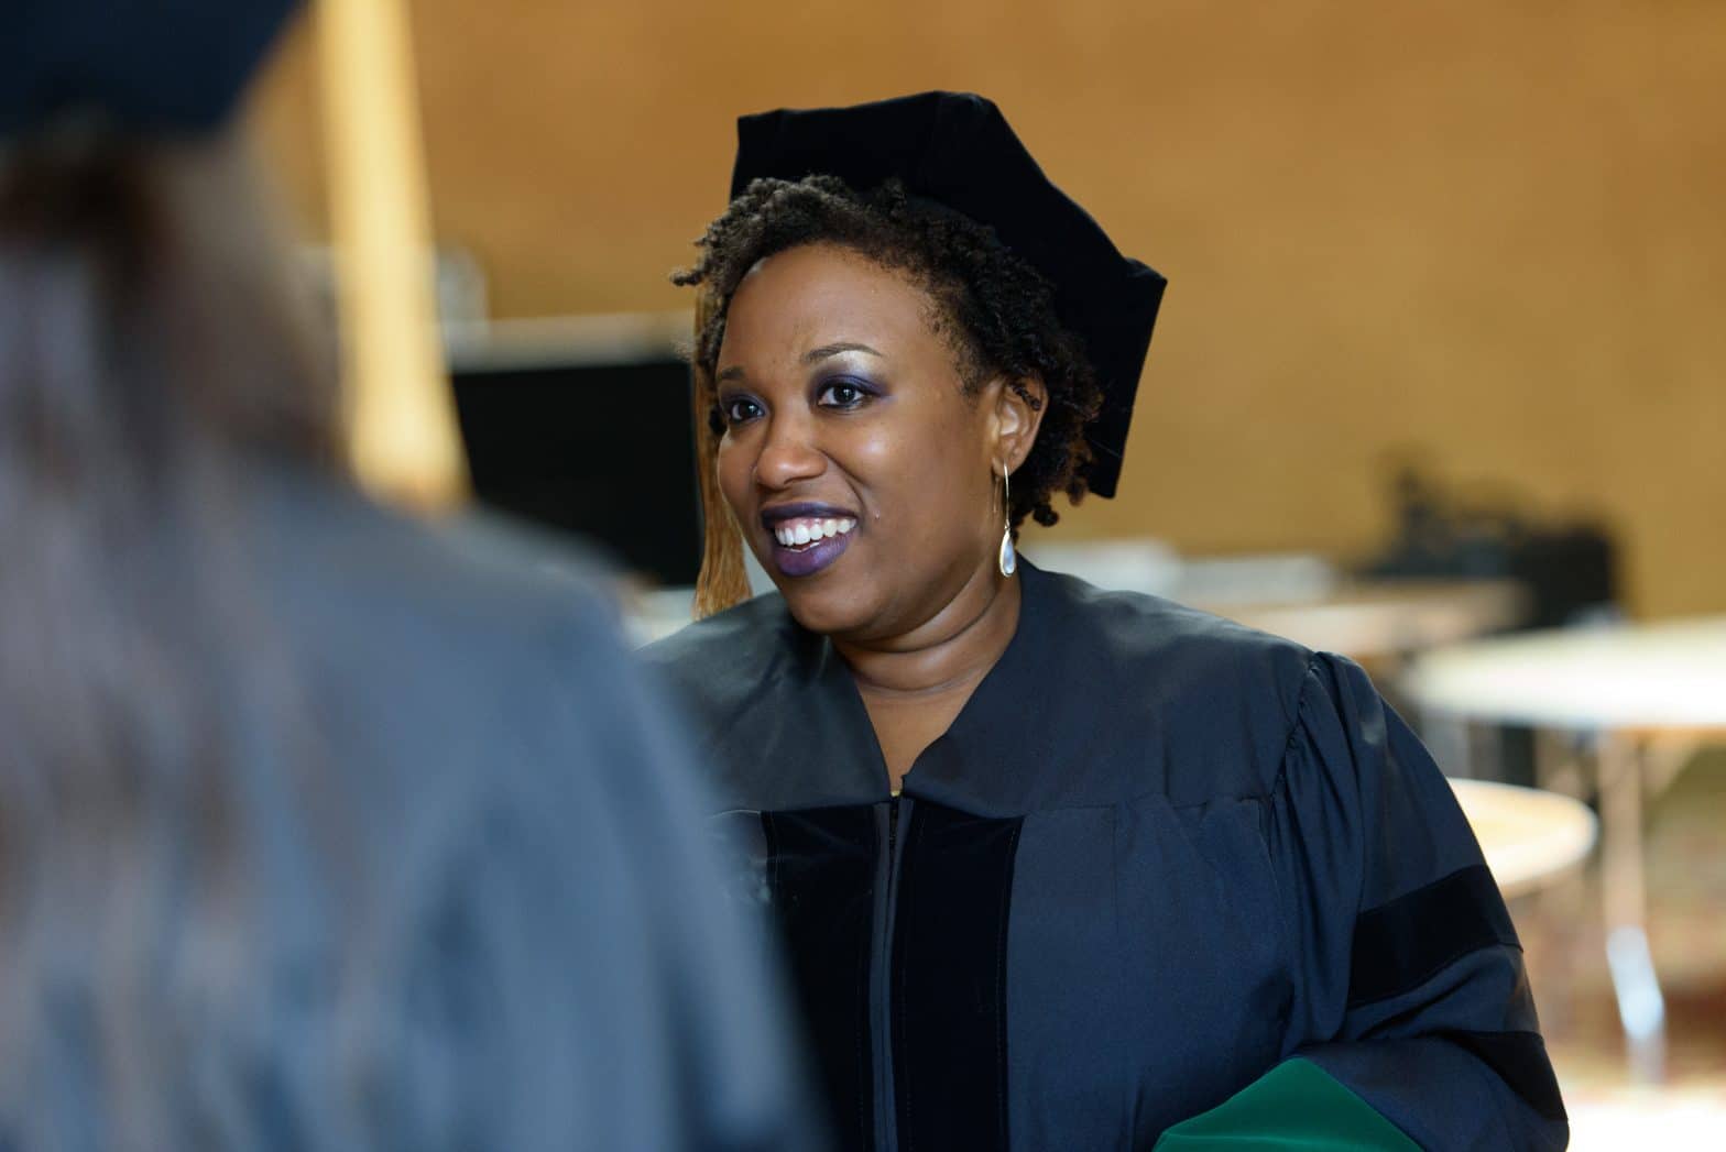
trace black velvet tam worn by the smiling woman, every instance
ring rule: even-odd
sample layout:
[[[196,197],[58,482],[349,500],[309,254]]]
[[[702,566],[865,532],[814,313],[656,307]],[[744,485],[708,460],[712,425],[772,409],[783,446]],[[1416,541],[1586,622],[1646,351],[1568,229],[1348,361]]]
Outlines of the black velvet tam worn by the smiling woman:
[[[837,176],[858,191],[899,179],[986,224],[1055,288],[1060,321],[1084,340],[1103,410],[1086,438],[1086,483],[1115,495],[1132,400],[1167,281],[1127,259],[1091,214],[1049,183],[992,102],[925,91],[846,109],[780,109],[737,121],[735,198],[753,179]]]

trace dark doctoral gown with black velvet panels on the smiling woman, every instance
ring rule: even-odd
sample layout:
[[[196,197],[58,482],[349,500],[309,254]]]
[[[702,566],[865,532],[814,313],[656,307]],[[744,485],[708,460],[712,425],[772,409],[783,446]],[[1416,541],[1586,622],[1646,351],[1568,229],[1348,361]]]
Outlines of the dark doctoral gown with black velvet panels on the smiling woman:
[[[1503,902],[1367,676],[1020,571],[1017,635],[899,800],[780,597],[647,648],[841,1147],[1150,1149],[1293,1059],[1429,1149],[1564,1147]]]

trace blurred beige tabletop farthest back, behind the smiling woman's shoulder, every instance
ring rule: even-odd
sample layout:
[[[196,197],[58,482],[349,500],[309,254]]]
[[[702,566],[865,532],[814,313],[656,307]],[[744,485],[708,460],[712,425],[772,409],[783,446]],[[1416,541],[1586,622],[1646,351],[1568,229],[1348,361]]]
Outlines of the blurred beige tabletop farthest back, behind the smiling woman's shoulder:
[[[1528,614],[1510,579],[1389,579],[1341,585],[1305,600],[1191,600],[1193,607],[1362,664],[1471,640]]]

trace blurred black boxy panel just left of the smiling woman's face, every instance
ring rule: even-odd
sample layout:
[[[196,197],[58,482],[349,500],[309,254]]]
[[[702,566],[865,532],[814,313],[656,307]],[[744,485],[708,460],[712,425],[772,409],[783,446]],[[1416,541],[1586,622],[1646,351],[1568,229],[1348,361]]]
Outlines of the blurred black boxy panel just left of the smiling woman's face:
[[[689,362],[670,341],[466,341],[450,379],[483,504],[597,542],[659,585],[696,583]]]

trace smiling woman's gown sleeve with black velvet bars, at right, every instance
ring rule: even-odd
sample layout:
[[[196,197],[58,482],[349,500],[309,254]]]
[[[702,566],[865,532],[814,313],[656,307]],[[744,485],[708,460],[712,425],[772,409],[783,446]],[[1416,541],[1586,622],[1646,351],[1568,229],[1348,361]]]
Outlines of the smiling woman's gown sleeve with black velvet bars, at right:
[[[1565,1147],[1498,886],[1431,755],[1346,659],[1307,667],[1265,836],[1293,952],[1286,1061],[1198,1119],[1250,1119],[1308,1064],[1346,1090],[1303,1093],[1331,1118],[1308,1126],[1353,1124],[1353,1100],[1424,1149]]]

